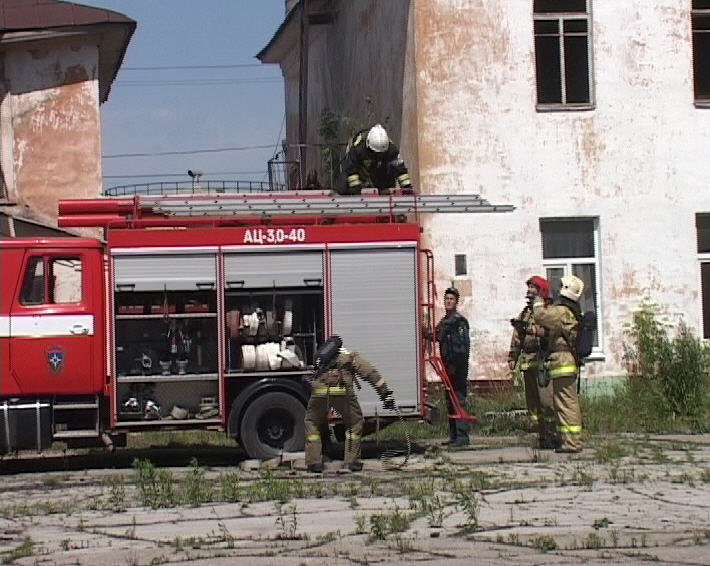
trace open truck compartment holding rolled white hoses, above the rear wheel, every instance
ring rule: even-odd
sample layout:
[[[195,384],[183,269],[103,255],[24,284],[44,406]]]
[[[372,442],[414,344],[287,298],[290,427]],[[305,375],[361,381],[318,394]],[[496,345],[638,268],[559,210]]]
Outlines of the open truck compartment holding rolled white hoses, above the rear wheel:
[[[323,338],[321,250],[224,256],[226,371],[304,373]]]

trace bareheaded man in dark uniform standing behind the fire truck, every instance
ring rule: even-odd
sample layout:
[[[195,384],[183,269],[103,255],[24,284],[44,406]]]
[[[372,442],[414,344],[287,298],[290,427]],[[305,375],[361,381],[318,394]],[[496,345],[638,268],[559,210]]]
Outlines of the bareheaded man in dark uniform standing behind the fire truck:
[[[449,287],[444,291],[444,317],[436,325],[436,338],[439,341],[439,353],[444,362],[446,374],[461,407],[465,407],[468,388],[468,356],[471,350],[468,321],[456,308],[459,304],[459,291]],[[449,401],[449,415],[454,407]],[[449,445],[468,445],[468,423],[461,419],[449,418]]]

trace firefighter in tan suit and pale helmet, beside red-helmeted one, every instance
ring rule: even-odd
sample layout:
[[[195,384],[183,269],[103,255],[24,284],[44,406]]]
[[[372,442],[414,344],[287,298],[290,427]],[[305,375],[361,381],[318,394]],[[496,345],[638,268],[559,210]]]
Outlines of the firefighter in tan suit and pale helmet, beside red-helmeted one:
[[[533,316],[547,331],[545,369],[549,372],[552,382],[555,420],[560,440],[557,451],[580,452],[582,413],[576,386],[576,345],[579,320],[582,316],[579,299],[584,291],[584,282],[575,275],[565,275],[560,283],[560,298],[557,303],[547,305],[542,297],[536,297],[533,301]]]

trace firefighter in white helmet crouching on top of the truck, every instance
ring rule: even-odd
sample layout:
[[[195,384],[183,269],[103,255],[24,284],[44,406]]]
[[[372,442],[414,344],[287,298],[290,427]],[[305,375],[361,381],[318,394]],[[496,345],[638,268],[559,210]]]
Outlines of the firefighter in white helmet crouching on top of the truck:
[[[381,124],[361,130],[348,144],[343,161],[345,182],[340,194],[359,194],[363,187],[375,187],[387,194],[397,184],[412,191],[407,166]]]

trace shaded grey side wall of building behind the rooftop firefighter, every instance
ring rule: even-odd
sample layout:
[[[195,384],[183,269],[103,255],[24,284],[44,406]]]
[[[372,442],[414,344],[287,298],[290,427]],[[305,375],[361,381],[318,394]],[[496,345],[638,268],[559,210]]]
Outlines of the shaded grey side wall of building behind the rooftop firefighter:
[[[333,19],[311,23],[308,29],[307,168],[321,167],[318,144],[328,140],[319,134],[319,123],[326,109],[341,120],[337,141],[345,143],[358,128],[381,122],[396,142],[402,140],[405,159],[415,160],[416,136],[406,131],[416,124],[410,0],[309,2],[309,6]],[[299,55],[296,39],[280,61],[292,147],[299,139]],[[320,178],[326,180],[322,169]]]

